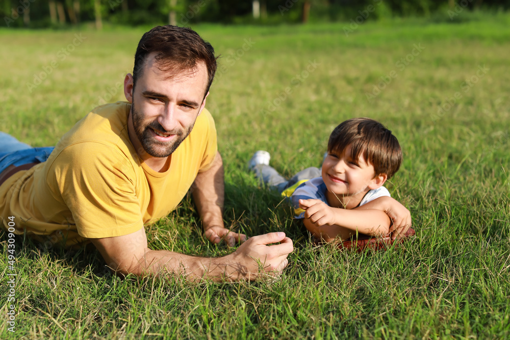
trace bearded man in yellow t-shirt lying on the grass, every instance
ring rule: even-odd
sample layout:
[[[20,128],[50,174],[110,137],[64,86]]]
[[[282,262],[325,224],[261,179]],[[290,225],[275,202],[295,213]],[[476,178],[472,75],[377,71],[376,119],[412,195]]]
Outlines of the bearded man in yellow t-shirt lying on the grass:
[[[14,216],[18,234],[51,235],[66,246],[90,241],[122,274],[234,281],[281,273],[293,250],[283,232],[246,240],[223,225],[223,165],[205,109],[215,70],[214,49],[196,32],[156,27],[143,35],[133,75],[125,77],[128,102],[94,109],[54,150],[0,135],[12,147],[0,149],[2,224]],[[244,242],[232,254],[201,258],[147,247],[143,225],[174,210],[190,187],[205,237]]]

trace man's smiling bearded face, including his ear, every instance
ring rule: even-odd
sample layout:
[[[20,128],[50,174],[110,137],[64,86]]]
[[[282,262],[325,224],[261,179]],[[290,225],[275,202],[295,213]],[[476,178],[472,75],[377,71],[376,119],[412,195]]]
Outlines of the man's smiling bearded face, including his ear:
[[[126,81],[129,90],[129,75]],[[143,73],[134,89],[131,87],[131,98],[126,94],[127,100],[132,102],[136,134],[136,138],[130,134],[130,139],[142,159],[166,158],[190,134],[205,106],[207,81],[204,64],[199,64],[195,71],[171,74],[158,68],[154,56],[147,57]]]

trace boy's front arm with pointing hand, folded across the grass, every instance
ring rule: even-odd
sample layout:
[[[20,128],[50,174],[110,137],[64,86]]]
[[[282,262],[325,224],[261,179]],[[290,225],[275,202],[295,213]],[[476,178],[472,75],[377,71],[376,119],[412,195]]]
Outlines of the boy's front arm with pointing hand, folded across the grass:
[[[300,199],[299,206],[305,210],[304,226],[314,236],[324,241],[342,240],[355,235],[356,231],[370,236],[385,236],[391,221],[381,210],[347,210],[334,208],[318,199]]]

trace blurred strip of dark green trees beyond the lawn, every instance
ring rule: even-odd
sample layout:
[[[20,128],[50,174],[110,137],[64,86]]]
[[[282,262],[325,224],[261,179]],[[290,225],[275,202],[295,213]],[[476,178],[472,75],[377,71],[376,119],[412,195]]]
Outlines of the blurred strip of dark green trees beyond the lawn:
[[[259,11],[253,11],[257,3]],[[373,6],[373,10],[370,10]],[[459,11],[506,11],[509,0],[0,0],[6,27],[63,28],[96,22],[143,25],[199,22],[279,24],[426,17],[450,20]],[[368,9],[368,11],[367,11]],[[308,14],[303,17],[303,12]]]

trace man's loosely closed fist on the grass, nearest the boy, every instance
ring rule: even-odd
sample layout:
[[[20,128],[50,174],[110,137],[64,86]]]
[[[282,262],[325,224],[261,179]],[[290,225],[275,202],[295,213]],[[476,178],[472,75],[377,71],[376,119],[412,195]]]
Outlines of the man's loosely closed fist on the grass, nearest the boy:
[[[277,242],[280,244],[270,245]],[[249,238],[231,255],[239,278],[260,280],[281,275],[289,264],[287,256],[293,250],[292,240],[285,232],[270,232]]]

